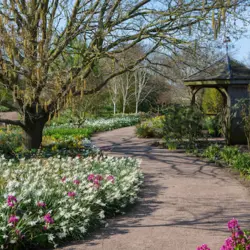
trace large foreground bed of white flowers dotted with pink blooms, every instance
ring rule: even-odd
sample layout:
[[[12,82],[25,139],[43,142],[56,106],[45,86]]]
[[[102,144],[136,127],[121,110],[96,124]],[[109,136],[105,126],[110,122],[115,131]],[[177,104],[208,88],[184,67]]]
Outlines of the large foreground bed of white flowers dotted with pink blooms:
[[[80,239],[135,202],[142,173],[132,158],[0,158],[0,247],[35,249]]]

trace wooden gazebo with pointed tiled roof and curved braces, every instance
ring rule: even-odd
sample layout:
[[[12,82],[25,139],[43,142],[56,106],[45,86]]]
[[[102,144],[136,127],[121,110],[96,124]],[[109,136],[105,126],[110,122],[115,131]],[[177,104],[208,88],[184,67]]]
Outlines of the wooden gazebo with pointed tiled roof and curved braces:
[[[228,144],[246,144],[239,113],[232,117],[232,107],[238,99],[249,97],[250,69],[228,55],[184,80],[191,88],[191,104],[202,88],[216,88],[224,100],[226,140]]]

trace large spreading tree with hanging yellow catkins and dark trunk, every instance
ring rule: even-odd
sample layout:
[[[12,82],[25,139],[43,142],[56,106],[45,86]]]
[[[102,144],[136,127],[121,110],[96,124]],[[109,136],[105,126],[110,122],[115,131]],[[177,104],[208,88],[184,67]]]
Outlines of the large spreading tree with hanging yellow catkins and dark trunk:
[[[190,29],[208,18],[221,20],[243,0],[4,0],[0,2],[0,83],[13,96],[6,105],[21,114],[27,149],[39,148],[46,122],[75,96],[92,94],[141,63],[158,48],[172,51],[194,39]],[[212,14],[212,10],[213,14]],[[223,17],[223,18],[221,18]],[[209,24],[211,25],[211,24]],[[139,59],[123,65],[119,55],[148,45]],[[98,64],[113,70],[98,85]],[[97,72],[95,72],[97,71]]]

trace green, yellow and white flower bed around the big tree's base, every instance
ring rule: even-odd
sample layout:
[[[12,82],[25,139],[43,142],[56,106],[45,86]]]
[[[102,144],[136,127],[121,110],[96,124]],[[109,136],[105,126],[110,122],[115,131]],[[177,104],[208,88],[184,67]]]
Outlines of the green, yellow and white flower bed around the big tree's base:
[[[27,151],[22,148],[22,131],[0,130],[0,154],[8,158],[50,157],[57,154],[62,156],[89,156],[98,154],[96,148],[86,148],[84,138],[90,138],[94,132],[108,131],[116,128],[132,126],[140,121],[139,115],[126,115],[111,119],[95,119],[85,121],[86,127],[78,128],[72,123],[53,124],[44,130],[41,148]],[[66,121],[66,120],[63,120]]]

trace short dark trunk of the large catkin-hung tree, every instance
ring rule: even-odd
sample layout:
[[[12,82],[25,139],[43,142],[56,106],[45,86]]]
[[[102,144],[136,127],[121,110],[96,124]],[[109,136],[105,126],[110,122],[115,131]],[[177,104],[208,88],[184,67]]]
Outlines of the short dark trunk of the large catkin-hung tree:
[[[25,149],[39,149],[42,143],[43,129],[47,120],[39,119],[25,124],[23,146]]]

